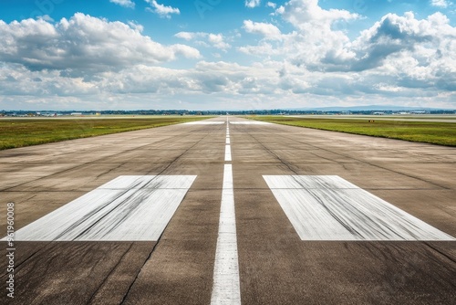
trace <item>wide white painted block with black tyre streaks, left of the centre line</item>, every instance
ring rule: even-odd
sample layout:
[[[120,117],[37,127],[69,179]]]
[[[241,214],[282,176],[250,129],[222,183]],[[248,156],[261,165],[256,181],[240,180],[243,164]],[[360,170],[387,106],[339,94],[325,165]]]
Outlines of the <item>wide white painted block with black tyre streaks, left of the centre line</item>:
[[[16,232],[16,240],[158,240],[195,175],[119,176]]]

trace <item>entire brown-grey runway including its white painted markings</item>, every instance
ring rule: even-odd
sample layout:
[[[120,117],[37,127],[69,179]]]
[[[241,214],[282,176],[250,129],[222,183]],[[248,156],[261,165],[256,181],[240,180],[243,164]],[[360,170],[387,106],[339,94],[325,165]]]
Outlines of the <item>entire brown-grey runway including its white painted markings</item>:
[[[204,122],[0,152],[0,303],[454,304],[456,149]]]

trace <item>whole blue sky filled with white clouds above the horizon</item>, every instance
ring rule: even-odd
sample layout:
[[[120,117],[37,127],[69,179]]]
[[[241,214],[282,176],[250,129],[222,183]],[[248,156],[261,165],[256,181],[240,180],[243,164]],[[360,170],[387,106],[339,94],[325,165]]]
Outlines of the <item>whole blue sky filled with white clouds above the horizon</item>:
[[[456,109],[456,1],[0,0],[0,110]]]

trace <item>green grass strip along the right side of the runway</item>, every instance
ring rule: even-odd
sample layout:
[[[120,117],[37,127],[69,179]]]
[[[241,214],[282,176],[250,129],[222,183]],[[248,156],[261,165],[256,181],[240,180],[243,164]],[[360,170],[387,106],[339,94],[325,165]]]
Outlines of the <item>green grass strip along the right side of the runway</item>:
[[[268,121],[325,131],[341,131],[374,137],[456,146],[456,122],[375,121],[350,119],[293,118],[286,116],[250,116],[248,119]]]

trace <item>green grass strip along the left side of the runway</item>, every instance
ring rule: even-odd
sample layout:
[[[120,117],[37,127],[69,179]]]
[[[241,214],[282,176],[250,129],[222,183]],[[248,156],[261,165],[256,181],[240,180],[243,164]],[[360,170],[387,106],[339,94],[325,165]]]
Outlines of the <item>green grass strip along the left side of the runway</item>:
[[[166,126],[209,117],[2,119],[0,150]]]

